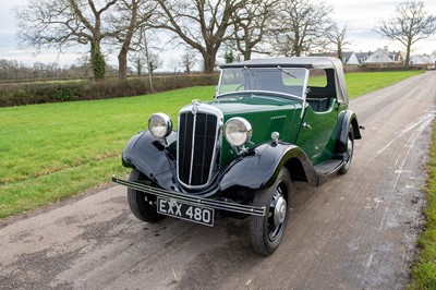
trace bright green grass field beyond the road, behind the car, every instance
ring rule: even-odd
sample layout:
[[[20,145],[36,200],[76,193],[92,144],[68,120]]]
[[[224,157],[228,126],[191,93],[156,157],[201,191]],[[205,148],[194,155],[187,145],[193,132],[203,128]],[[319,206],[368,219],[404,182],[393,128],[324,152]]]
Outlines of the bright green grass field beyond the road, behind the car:
[[[353,73],[358,96],[420,72]],[[384,81],[385,80],[385,81]],[[376,83],[376,85],[373,85]],[[121,152],[154,112],[177,120],[192,99],[213,99],[215,86],[156,95],[0,108],[0,218],[55,203],[123,176]]]

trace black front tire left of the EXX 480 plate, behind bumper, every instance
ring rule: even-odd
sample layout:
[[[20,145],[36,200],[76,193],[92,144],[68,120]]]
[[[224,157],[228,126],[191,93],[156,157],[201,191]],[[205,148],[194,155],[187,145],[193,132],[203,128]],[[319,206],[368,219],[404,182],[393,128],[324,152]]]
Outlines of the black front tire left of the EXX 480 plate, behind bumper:
[[[143,183],[146,177],[141,171],[132,169],[129,180]],[[133,215],[143,221],[158,222],[167,217],[157,213],[155,195],[128,189],[128,202]]]

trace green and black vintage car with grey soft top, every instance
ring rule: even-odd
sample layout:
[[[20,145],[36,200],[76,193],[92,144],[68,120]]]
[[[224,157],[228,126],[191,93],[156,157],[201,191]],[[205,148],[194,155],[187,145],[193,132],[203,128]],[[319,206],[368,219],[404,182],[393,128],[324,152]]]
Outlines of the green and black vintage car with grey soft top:
[[[130,208],[146,222],[171,216],[213,227],[217,218],[250,217],[254,251],[269,255],[284,234],[291,181],[319,186],[346,173],[362,128],[348,110],[338,59],[220,69],[215,100],[183,107],[177,132],[168,114],[153,114],[122,153],[130,179],[112,180],[129,188]]]

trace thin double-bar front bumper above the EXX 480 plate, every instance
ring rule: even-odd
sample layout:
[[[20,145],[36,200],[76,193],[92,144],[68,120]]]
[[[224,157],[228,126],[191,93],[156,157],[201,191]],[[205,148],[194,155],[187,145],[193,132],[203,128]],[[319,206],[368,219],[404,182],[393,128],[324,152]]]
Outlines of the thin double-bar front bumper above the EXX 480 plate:
[[[245,214],[245,215],[252,215],[252,216],[265,216],[266,215],[266,208],[265,206],[263,207],[256,207],[256,206],[250,206],[250,205],[242,205],[238,203],[231,203],[231,202],[225,202],[225,201],[217,201],[217,200],[211,200],[211,198],[203,198],[198,197],[195,195],[190,195],[190,194],[183,194],[179,192],[170,192],[167,190],[162,189],[156,189],[143,183],[134,182],[134,181],[129,181],[129,180],[123,180],[119,179],[116,176],[112,177],[112,181],[124,185],[126,188],[142,191],[145,193],[149,193],[156,196],[160,197],[167,197],[167,198],[172,198],[174,201],[180,201],[180,202],[187,202],[194,205],[203,205],[207,206],[210,208],[216,208],[220,210],[227,210],[227,212],[232,212],[232,213],[239,213],[239,214]]]

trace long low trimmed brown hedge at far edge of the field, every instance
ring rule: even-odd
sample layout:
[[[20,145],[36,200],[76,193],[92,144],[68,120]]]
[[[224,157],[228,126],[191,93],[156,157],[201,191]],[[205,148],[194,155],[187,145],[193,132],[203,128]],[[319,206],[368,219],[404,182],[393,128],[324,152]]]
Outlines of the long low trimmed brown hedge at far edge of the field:
[[[206,86],[218,83],[218,75],[185,74],[154,77],[155,92],[173,90],[190,86]],[[0,107],[92,100],[150,94],[148,78],[132,77],[126,82],[118,78],[106,81],[64,81],[50,83],[25,83],[0,85]]]

